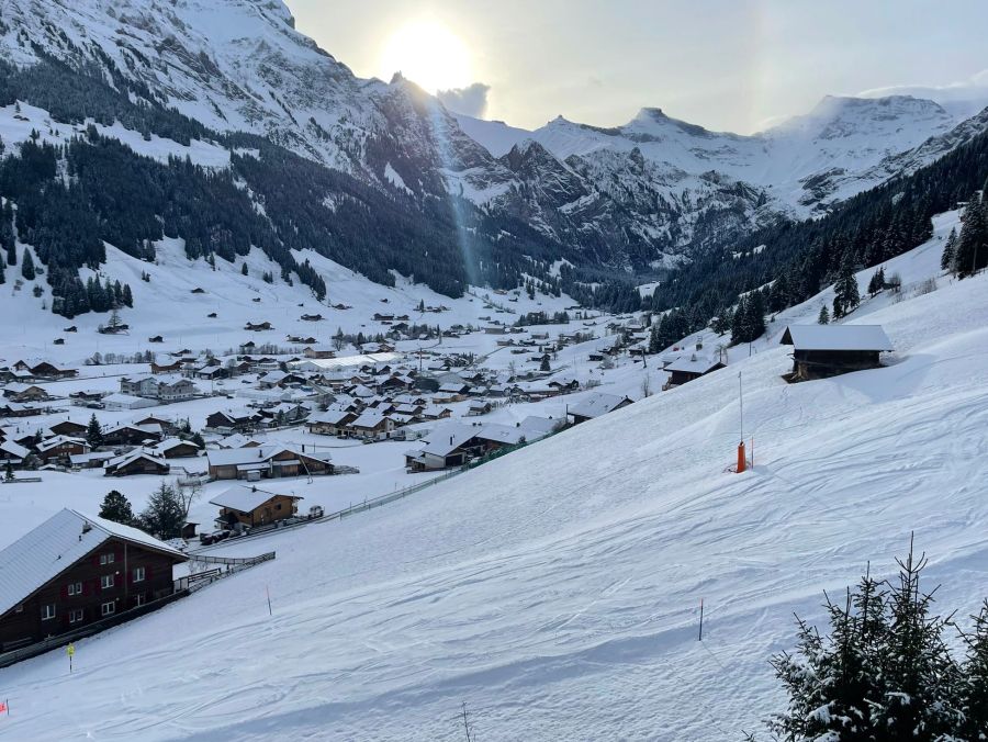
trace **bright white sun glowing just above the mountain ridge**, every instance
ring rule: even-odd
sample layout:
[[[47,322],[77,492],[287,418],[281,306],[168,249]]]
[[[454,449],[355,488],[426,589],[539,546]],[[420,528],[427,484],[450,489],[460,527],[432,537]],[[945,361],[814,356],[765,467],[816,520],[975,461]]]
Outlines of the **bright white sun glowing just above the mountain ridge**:
[[[401,72],[435,94],[470,85],[470,54],[460,37],[446,26],[415,23],[388,40],[381,54],[381,71],[385,80]]]

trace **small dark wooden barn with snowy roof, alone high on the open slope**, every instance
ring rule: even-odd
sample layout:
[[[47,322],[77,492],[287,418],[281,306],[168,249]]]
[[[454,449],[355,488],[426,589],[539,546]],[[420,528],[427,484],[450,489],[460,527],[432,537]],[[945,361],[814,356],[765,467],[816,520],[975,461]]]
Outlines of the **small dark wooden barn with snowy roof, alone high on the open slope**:
[[[788,381],[877,369],[880,355],[892,350],[879,325],[789,325],[779,342],[793,346]]]

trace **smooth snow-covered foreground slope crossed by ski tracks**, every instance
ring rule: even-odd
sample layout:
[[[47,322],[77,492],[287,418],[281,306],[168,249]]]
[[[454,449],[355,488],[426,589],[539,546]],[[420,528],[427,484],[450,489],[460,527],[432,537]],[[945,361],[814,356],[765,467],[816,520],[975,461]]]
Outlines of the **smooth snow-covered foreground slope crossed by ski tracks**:
[[[78,642],[74,675],[60,652],[0,671],[3,731],[454,739],[465,702],[484,739],[737,739],[784,702],[766,659],[791,612],[890,573],[910,531],[941,606],[985,597],[986,289],[862,317],[887,368],[787,385],[787,349],[762,348],[400,504],[228,546],[278,559]]]

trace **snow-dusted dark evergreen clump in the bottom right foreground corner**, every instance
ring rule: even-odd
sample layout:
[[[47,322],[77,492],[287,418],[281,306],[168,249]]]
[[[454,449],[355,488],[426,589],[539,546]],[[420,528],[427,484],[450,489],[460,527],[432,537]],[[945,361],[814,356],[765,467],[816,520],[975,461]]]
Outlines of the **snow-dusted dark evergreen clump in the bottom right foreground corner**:
[[[920,587],[925,556],[899,575],[866,574],[842,606],[827,599],[826,639],[797,617],[796,652],[772,659],[788,697],[768,722],[786,742],[961,742],[988,739],[988,603],[966,637],[966,661],[947,650],[950,618]]]

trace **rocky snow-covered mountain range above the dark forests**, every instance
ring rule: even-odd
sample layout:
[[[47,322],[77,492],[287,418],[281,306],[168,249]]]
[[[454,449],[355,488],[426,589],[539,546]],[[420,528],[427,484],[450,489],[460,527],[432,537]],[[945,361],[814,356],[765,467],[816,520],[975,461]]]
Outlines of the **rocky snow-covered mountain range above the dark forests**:
[[[559,117],[527,132],[450,114],[400,77],[356,77],[281,0],[0,0],[0,57],[15,65],[98,70],[213,131],[262,135],[425,210],[463,196],[588,263],[632,271],[821,213],[985,125],[896,95],[826,98],[754,136],[659,109],[616,128]]]

